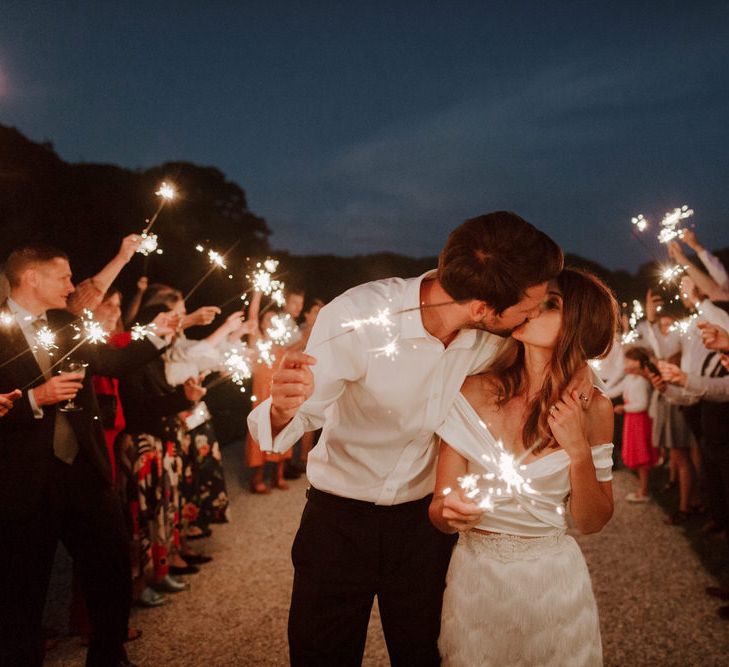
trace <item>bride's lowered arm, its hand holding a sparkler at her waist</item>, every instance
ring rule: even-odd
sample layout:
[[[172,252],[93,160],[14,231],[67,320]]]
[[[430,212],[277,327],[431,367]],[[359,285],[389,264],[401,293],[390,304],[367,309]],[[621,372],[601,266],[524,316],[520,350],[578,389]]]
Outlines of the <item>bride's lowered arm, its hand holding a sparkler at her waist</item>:
[[[465,475],[467,470],[466,459],[441,440],[435,492],[428,516],[430,522],[443,533],[473,528],[484,512],[472,500],[462,496],[458,478]]]

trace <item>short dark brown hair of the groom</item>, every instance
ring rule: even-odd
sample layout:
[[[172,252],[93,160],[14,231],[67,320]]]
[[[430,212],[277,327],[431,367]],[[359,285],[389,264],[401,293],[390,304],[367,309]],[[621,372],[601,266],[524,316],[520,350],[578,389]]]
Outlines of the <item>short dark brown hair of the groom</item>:
[[[560,247],[515,213],[496,211],[466,220],[448,236],[438,280],[456,301],[485,301],[497,314],[519,302],[529,287],[556,278]]]

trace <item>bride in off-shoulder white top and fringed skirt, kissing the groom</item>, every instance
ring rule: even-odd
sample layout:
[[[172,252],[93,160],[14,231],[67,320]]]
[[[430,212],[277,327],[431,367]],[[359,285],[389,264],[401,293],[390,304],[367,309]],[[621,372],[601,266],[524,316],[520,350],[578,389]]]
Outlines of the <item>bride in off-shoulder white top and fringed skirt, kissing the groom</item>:
[[[569,499],[583,533],[612,516],[613,411],[603,394],[568,387],[607,354],[616,320],[610,290],[565,269],[438,429],[430,517],[460,531],[443,598],[446,666],[602,664],[590,575],[565,515]]]

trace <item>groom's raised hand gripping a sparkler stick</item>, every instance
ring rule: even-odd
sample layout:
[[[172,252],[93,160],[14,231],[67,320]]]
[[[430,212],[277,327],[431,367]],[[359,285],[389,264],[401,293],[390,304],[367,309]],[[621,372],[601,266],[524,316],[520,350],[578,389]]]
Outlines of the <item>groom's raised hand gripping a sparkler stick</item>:
[[[311,366],[316,359],[304,352],[286,352],[271,381],[271,430],[278,434],[314,392]]]

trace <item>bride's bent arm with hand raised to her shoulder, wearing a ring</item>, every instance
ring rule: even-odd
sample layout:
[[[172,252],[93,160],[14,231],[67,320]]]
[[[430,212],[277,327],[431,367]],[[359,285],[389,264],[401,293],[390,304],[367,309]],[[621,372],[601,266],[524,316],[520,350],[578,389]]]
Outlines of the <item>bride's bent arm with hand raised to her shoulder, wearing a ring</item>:
[[[613,515],[612,483],[597,480],[591,449],[593,444],[612,442],[612,404],[608,398],[597,396],[590,412],[589,438],[576,395],[566,395],[549,417],[552,434],[570,457],[570,512],[581,533],[597,533]]]

